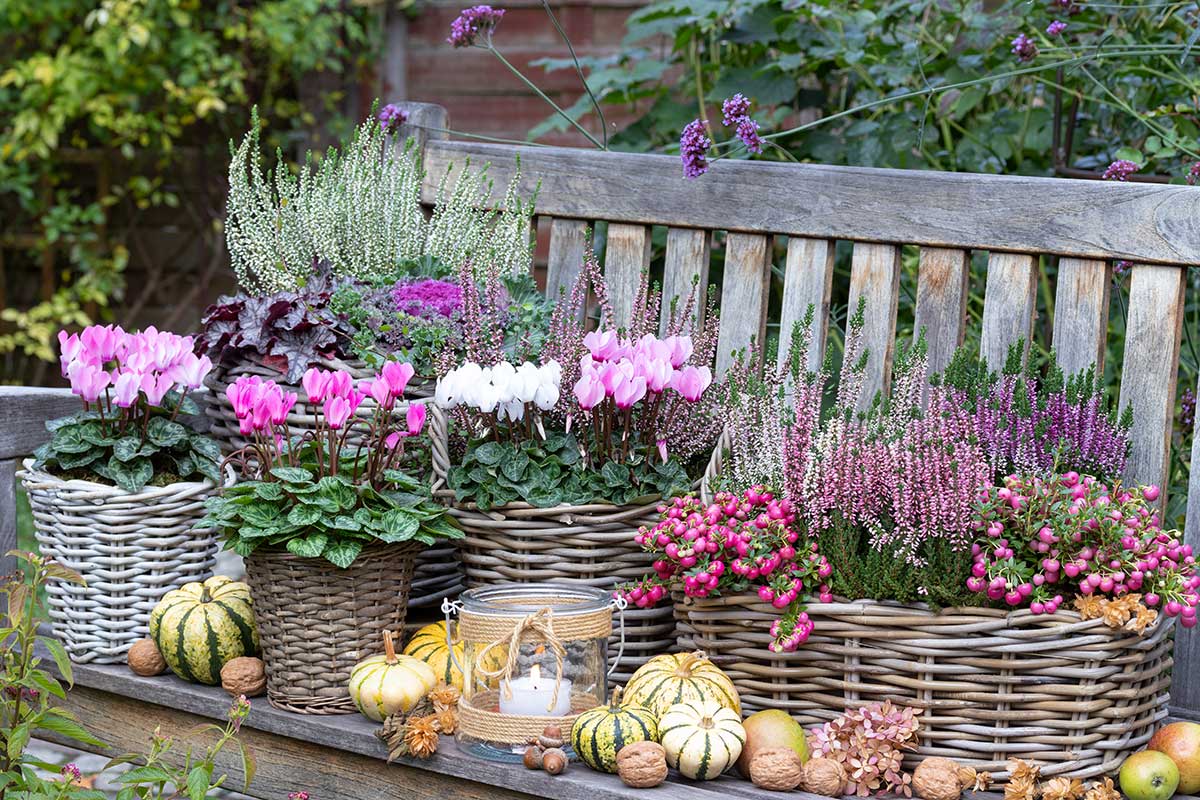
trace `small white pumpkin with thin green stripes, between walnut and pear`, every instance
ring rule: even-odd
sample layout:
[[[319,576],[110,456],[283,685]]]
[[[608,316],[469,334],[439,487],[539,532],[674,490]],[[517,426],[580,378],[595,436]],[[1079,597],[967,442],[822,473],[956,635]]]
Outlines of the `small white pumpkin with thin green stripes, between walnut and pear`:
[[[746,740],[742,715],[715,700],[676,703],[659,720],[667,764],[694,781],[710,781],[738,760]]]

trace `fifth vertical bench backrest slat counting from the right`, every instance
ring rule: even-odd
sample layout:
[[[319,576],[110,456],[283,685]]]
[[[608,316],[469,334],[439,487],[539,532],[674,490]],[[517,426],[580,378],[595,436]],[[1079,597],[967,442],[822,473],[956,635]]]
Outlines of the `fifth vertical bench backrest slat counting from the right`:
[[[892,385],[895,356],[896,309],[900,302],[900,248],[895,245],[854,242],[850,266],[850,313],[866,300],[863,347],[868,349],[866,374],[858,409],[866,410],[877,392]],[[845,366],[845,365],[844,365]]]

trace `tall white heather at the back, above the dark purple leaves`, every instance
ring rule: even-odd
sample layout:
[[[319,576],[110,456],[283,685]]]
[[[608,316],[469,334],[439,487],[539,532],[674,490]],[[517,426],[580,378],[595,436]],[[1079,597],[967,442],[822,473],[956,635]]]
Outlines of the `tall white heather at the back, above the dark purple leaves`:
[[[226,240],[238,283],[256,295],[295,290],[318,261],[335,276],[390,277],[404,263],[432,259],[446,273],[470,263],[500,273],[533,266],[533,198],[517,194],[520,166],[496,210],[487,167],[469,162],[451,181],[448,169],[428,221],[421,207],[425,178],[412,142],[403,149],[374,118],[319,168],[312,156],[295,175],[284,166],[263,174],[258,114],[229,164]],[[490,210],[491,209],[491,210]]]

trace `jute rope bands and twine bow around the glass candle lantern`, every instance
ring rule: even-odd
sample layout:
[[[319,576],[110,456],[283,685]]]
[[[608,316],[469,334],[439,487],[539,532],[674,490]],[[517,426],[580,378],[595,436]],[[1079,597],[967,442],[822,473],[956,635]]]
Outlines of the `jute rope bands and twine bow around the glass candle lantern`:
[[[560,603],[560,599],[547,599]],[[522,604],[536,602],[522,597]],[[551,705],[557,703],[558,690],[563,680],[563,660],[566,649],[563,642],[574,639],[602,639],[612,634],[612,609],[602,608],[595,612],[554,616],[548,607],[523,616],[480,614],[461,610],[458,618],[458,636],[472,642],[487,642],[475,654],[473,672],[485,678],[499,678],[500,687],[494,691],[476,692],[458,702],[458,727],[463,734],[490,742],[510,745],[524,744],[539,735],[547,724],[558,724],[563,730],[570,730],[575,717],[600,704],[590,692],[571,693],[571,712],[566,716],[550,715],[514,715],[500,714],[500,694],[506,692],[506,682],[517,676],[517,660],[522,644],[545,645],[554,655],[557,674]],[[508,654],[504,663],[497,669],[484,667],[488,654],[503,648]],[[511,698],[511,693],[508,694]]]

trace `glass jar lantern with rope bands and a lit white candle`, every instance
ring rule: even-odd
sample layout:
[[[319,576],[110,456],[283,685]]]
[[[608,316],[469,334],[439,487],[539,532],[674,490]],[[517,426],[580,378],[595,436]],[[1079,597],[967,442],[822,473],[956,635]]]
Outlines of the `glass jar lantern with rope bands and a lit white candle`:
[[[576,715],[602,704],[614,608],[624,612],[624,601],[602,589],[554,583],[481,587],[443,602],[448,639],[457,613],[462,642],[458,744],[516,762],[547,724],[570,730]],[[624,625],[620,645],[618,662]]]

